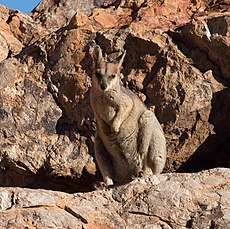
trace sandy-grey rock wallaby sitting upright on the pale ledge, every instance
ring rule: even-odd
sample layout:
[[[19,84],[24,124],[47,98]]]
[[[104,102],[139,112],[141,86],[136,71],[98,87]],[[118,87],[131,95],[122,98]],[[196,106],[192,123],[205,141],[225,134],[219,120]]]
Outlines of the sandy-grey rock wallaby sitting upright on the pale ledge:
[[[108,62],[99,46],[92,51],[94,74],[90,103],[97,122],[95,159],[105,186],[140,175],[160,174],[166,142],[155,116],[121,81],[121,66]]]

